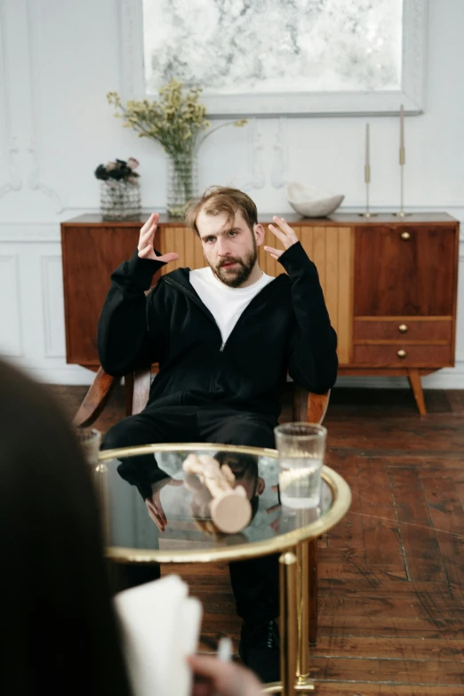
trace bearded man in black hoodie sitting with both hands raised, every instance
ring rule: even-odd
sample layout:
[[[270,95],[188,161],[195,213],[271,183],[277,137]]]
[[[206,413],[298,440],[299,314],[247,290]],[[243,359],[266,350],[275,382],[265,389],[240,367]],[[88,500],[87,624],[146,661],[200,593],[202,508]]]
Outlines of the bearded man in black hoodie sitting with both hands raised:
[[[315,265],[294,230],[274,217],[270,231],[284,251],[265,246],[286,274],[260,269],[265,231],[256,205],[236,188],[212,188],[188,212],[206,268],[179,268],[147,291],[178,254],[153,248],[159,216],[140,230],[137,251],[111,276],[100,317],[99,355],[122,375],[159,363],[148,405],[117,423],[105,448],[160,442],[215,442],[274,447],[273,428],[287,372],[310,391],[332,388],[336,334]],[[230,564],[239,652],[265,681],[278,678],[276,556]]]

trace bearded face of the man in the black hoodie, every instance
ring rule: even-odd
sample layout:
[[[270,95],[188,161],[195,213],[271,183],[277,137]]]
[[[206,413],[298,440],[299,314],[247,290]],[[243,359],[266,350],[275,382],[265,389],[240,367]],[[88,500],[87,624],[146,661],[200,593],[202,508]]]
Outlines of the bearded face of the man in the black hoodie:
[[[232,225],[225,212],[198,214],[196,227],[200,233],[204,258],[219,280],[238,288],[250,277],[258,258],[254,232],[242,212],[237,211]]]

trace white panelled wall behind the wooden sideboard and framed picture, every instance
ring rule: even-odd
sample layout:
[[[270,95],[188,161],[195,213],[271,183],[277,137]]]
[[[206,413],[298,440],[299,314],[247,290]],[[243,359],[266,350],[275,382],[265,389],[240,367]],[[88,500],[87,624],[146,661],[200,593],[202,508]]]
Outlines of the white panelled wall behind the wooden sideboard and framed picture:
[[[98,212],[97,164],[136,156],[142,201],[164,210],[164,153],[112,116],[121,90],[123,0],[0,0],[0,353],[58,383],[89,383],[65,360],[60,221]],[[430,0],[427,102],[406,119],[405,207],[464,221],[464,2]],[[288,212],[284,180],[306,180],[364,206],[364,124],[371,124],[372,206],[399,202],[397,118],[256,119],[212,135],[200,152],[200,187],[246,188],[260,212]],[[464,230],[460,267],[464,263]],[[462,277],[463,268],[460,268]],[[464,287],[457,364],[427,387],[464,388]],[[399,378],[340,384],[404,385]]]

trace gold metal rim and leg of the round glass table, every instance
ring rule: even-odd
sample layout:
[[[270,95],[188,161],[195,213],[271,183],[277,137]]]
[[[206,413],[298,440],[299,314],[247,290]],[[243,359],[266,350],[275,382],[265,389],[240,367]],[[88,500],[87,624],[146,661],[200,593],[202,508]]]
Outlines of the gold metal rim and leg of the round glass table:
[[[237,452],[254,454],[260,457],[277,459],[277,451],[261,447],[220,443],[178,443],[147,444],[124,447],[100,452],[97,472],[104,473],[103,462],[121,457],[156,452]],[[323,467],[322,477],[332,492],[331,508],[315,522],[300,529],[277,535],[273,539],[238,544],[234,547],[207,548],[194,550],[167,550],[124,548],[108,546],[106,556],[118,563],[168,564],[168,563],[211,563],[214,561],[239,561],[245,558],[268,556],[281,552],[279,558],[280,580],[280,682],[264,684],[265,693],[312,692],[315,683],[309,678],[309,563],[311,542],[332,529],[348,512],[351,504],[351,491],[347,482],[332,468]],[[102,493],[100,488],[100,493]],[[103,504],[105,507],[105,496]],[[108,510],[105,511],[108,519]]]

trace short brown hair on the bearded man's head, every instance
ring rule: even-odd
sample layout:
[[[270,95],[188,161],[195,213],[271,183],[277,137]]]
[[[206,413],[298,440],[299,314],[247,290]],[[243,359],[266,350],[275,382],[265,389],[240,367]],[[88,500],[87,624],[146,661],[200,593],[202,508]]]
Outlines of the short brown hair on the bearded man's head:
[[[240,211],[251,230],[258,222],[256,204],[250,196],[247,196],[243,191],[239,191],[238,188],[212,186],[206,189],[204,195],[198,201],[190,205],[185,221],[188,227],[192,228],[198,236],[200,236],[200,232],[196,227],[196,218],[201,211],[204,211],[207,215],[219,215],[220,212],[225,212],[231,225],[234,222],[236,212]]]

